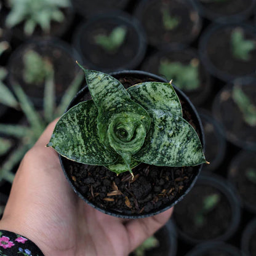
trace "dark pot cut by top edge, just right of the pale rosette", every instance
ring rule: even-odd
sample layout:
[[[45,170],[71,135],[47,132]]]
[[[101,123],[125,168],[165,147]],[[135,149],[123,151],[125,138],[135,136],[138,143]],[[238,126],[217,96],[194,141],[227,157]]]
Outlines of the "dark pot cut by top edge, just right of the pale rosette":
[[[82,16],[88,18],[95,14],[125,9],[130,0],[72,0],[74,9]]]

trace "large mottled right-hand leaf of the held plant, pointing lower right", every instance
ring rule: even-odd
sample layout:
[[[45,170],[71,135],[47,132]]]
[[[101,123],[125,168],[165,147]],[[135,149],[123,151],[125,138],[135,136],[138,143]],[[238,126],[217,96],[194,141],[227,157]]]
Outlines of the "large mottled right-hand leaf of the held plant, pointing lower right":
[[[150,110],[151,127],[137,161],[155,166],[197,166],[206,162],[193,127],[169,111]]]

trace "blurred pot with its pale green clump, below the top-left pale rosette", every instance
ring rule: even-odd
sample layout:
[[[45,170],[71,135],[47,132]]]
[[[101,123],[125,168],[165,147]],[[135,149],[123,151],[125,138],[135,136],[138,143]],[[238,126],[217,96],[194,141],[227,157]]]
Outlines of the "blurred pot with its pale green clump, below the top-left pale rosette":
[[[76,51],[58,39],[27,42],[10,56],[7,82],[10,86],[20,84],[34,105],[40,108],[49,76],[54,77],[57,100],[70,86],[78,74],[74,59],[79,59]]]

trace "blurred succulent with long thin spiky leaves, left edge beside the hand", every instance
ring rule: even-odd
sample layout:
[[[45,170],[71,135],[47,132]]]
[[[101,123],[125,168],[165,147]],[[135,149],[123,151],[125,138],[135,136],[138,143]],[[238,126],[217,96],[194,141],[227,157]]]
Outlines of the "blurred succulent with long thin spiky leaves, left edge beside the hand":
[[[44,109],[43,113],[39,113],[31,103],[18,84],[14,86],[15,96],[10,92],[4,83],[0,83],[0,103],[10,106],[12,108],[19,108],[23,111],[28,120],[28,126],[19,124],[0,124],[0,134],[14,137],[18,139],[17,148],[12,151],[2,166],[0,166],[0,180],[4,179],[12,182],[14,175],[11,170],[23,158],[26,151],[28,151],[38,140],[43,130],[49,122],[60,116],[74,97],[83,80],[82,73],[79,73],[70,87],[66,90],[62,100],[58,106],[55,106],[55,84],[54,72],[46,78],[44,89]],[[4,97],[2,96],[4,95]]]

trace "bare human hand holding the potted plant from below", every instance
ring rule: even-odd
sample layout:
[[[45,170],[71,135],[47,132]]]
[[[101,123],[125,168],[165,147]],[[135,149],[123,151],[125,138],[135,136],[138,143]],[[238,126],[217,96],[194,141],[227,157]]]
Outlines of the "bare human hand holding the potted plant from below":
[[[46,148],[57,121],[26,153],[15,175],[0,230],[31,239],[46,256],[124,256],[167,222],[162,214],[124,220],[80,199],[62,172],[57,153]]]

